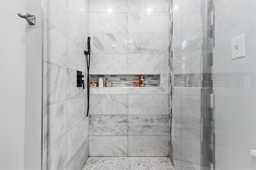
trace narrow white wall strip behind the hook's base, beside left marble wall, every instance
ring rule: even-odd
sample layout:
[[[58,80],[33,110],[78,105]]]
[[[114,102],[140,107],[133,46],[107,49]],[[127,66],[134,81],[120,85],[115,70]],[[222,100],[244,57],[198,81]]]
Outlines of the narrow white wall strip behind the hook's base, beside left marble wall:
[[[41,168],[42,119],[42,0],[26,0],[26,12],[36,16],[36,25],[26,23],[26,170]],[[22,18],[20,18],[22,19]]]

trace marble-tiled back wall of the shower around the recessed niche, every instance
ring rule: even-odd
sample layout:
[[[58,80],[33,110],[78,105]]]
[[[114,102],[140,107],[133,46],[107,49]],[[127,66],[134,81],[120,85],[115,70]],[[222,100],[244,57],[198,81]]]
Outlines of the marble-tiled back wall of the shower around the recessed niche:
[[[168,156],[169,0],[90,0],[89,35],[90,74],[161,81],[90,89],[90,156]]]

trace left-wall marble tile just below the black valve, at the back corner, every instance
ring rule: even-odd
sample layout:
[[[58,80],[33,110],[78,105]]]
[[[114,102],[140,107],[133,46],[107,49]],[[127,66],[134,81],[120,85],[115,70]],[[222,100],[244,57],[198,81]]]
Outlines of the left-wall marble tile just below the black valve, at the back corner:
[[[86,117],[86,96],[67,100],[67,131]]]

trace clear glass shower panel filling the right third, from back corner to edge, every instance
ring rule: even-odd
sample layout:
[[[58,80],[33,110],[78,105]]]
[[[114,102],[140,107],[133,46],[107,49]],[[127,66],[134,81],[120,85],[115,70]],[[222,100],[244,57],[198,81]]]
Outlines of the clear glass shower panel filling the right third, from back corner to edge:
[[[256,1],[170,2],[174,166],[256,169]],[[240,35],[246,56],[236,59]]]

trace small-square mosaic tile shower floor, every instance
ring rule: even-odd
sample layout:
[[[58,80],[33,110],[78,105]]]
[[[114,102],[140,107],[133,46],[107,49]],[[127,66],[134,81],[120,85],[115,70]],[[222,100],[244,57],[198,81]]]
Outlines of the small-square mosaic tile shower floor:
[[[169,157],[89,157],[82,170],[174,170]]]

